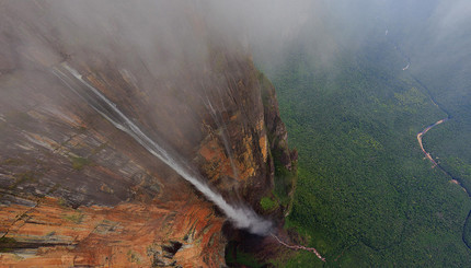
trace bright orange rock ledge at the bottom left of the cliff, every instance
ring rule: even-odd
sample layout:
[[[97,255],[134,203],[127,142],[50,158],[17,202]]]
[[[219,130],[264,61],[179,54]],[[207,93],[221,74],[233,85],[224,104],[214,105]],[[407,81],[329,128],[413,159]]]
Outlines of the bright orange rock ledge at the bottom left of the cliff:
[[[203,200],[76,209],[49,197],[30,206],[16,203],[13,197],[12,201],[1,210],[5,233],[1,266],[215,267],[223,263],[218,246],[223,244],[222,220]]]

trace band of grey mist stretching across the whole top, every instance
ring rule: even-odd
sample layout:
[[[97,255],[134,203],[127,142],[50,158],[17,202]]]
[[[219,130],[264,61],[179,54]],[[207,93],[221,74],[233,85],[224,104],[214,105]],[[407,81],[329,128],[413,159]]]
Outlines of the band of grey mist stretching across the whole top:
[[[301,45],[322,67],[386,30],[413,60],[411,69],[471,61],[467,0],[2,1],[0,13],[0,69],[102,55],[116,68],[145,66],[154,79],[181,82],[188,70],[196,78],[208,69],[216,46],[276,66]]]

